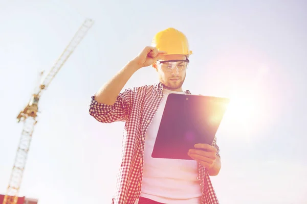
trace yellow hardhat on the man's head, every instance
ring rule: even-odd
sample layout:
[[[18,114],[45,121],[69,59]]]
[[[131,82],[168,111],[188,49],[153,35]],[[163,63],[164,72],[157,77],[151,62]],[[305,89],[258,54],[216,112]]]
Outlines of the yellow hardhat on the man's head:
[[[158,32],[153,37],[151,46],[158,50],[167,52],[166,55],[191,55],[187,37],[174,28],[168,28]]]

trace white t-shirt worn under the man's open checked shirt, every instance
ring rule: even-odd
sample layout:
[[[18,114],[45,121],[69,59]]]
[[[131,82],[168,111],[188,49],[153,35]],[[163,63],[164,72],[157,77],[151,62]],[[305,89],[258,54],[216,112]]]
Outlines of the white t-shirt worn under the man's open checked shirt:
[[[169,93],[184,94],[184,92],[163,89],[161,104],[145,137],[141,197],[169,204],[199,204],[202,192],[200,181],[197,179],[198,164],[196,161],[151,157]]]

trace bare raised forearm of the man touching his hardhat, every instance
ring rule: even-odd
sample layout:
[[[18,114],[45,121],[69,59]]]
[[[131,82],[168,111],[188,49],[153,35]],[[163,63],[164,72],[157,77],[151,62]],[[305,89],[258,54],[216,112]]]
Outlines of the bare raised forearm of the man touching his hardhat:
[[[100,104],[113,105],[120,91],[138,69],[134,61],[129,61],[111,80],[99,89],[95,95],[95,100]]]

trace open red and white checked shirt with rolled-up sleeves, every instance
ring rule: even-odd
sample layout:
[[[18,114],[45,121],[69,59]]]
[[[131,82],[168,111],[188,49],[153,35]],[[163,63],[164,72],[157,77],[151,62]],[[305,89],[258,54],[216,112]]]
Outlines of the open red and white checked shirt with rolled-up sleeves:
[[[145,134],[163,97],[161,83],[126,89],[121,92],[114,105],[99,104],[91,98],[89,113],[103,123],[125,121],[121,166],[117,175],[116,193],[112,204],[138,203],[143,175]],[[186,94],[191,94],[189,90]],[[220,157],[214,138],[212,144]],[[208,171],[198,165],[202,204],[218,204]]]

